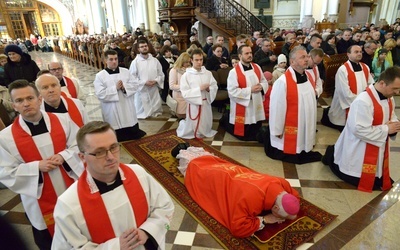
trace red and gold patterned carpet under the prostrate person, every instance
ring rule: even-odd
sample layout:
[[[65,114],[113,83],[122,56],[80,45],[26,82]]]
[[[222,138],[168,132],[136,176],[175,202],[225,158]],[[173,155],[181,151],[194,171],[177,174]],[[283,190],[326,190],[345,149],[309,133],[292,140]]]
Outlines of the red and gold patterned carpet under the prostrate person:
[[[294,249],[307,242],[328,225],[336,216],[301,200],[301,214],[295,222],[274,225],[273,228],[257,233],[257,237],[235,238],[227,228],[210,217],[195,203],[183,184],[183,176],[178,171],[178,161],[171,156],[171,150],[180,142],[187,141],[192,146],[204,147],[207,151],[241,165],[232,158],[199,140],[183,140],[176,136],[175,130],[168,130],[140,140],[122,145],[145,167],[185,210],[202,224],[209,233],[226,249]],[[259,239],[259,240],[257,240]],[[262,243],[264,242],[264,243]]]

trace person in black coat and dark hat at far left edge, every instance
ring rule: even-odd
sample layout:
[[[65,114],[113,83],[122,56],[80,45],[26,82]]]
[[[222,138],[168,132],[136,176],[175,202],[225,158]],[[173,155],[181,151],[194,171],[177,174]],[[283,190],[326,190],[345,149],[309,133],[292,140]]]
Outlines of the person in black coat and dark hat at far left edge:
[[[4,53],[8,56],[7,64],[4,66],[6,86],[18,79],[25,79],[29,82],[36,80],[40,69],[29,54],[23,53],[21,48],[15,44],[7,45]]]

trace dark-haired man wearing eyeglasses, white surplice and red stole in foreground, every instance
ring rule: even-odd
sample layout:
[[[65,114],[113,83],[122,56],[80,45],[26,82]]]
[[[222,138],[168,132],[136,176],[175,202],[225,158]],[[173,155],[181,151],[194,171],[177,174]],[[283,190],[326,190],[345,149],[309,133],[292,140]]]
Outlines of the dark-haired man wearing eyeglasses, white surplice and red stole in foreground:
[[[77,134],[86,170],[54,211],[52,249],[165,249],[174,205],[142,167],[120,163],[112,127],[89,122]]]

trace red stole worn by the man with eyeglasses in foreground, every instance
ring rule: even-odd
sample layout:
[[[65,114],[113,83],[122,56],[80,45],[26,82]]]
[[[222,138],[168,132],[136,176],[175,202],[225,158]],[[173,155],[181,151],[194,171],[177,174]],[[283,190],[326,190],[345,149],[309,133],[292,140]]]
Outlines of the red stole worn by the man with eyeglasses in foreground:
[[[125,175],[122,183],[135,214],[136,226],[139,227],[146,221],[149,212],[146,195],[135,172],[124,164],[120,164],[119,167]],[[87,170],[79,177],[78,197],[92,241],[101,244],[115,238],[116,235],[100,192],[92,194],[90,191]]]

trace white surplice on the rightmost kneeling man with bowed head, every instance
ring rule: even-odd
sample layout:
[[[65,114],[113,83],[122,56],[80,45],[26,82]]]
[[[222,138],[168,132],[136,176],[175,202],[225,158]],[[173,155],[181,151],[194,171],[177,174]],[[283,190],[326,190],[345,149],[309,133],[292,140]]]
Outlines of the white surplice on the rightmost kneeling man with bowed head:
[[[383,109],[381,125],[373,126],[374,105],[366,91],[360,93],[350,106],[346,126],[335,144],[335,164],[342,173],[361,177],[367,143],[379,147],[376,177],[382,177],[382,164],[385,152],[385,143],[388,136],[389,104],[387,100],[380,100],[374,85],[368,86]],[[395,107],[394,99],[393,107]],[[393,111],[391,121],[398,121]],[[394,139],[391,138],[391,139]],[[390,152],[389,152],[390,155]]]

